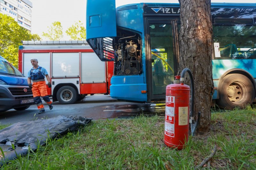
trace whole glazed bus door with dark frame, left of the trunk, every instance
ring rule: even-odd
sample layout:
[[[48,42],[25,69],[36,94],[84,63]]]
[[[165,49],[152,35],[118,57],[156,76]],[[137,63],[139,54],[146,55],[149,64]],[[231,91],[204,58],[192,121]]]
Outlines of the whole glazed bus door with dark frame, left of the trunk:
[[[178,20],[146,18],[146,67],[148,101],[165,101],[166,86],[178,68]]]

